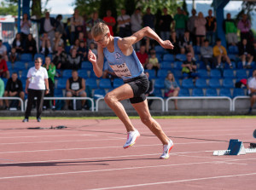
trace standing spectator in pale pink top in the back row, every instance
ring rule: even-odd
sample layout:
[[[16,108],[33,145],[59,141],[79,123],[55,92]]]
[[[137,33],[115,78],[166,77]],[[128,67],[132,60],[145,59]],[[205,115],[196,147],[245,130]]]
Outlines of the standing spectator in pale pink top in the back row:
[[[207,20],[204,18],[204,14],[199,12],[198,17],[195,19],[195,35],[196,45],[201,46],[206,37],[206,24]]]

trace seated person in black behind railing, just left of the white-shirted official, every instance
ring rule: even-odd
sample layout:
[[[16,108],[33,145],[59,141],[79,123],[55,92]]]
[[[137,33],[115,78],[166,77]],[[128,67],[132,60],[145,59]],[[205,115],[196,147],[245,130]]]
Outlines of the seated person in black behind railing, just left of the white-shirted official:
[[[9,78],[9,80],[6,83],[5,91],[4,91],[5,97],[20,97],[24,101],[24,92],[23,87],[20,79],[18,78],[17,72],[12,73],[12,77]],[[5,109],[9,109],[9,101],[5,101]],[[20,110],[20,101],[18,105],[18,109]]]

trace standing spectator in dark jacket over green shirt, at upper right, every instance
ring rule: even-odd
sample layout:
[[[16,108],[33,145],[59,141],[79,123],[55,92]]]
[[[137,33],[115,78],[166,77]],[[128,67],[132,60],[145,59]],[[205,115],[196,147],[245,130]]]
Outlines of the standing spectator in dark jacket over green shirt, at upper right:
[[[223,22],[224,32],[226,34],[226,39],[228,45],[236,46],[237,41],[237,28],[235,20],[231,19],[231,14],[227,14],[227,19]]]

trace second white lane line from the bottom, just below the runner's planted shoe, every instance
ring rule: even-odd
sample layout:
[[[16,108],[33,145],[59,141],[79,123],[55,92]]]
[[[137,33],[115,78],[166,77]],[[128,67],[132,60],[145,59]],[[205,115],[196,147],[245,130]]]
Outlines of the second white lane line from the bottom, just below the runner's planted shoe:
[[[230,160],[230,161],[232,161],[232,160]],[[115,168],[115,169],[105,169],[105,170],[70,171],[70,172],[50,173],[50,174],[38,174],[38,175],[27,175],[27,176],[6,176],[6,177],[0,177],[0,180],[17,179],[17,178],[26,178],[26,177],[38,177],[38,176],[60,176],[60,175],[68,175],[68,174],[82,174],[82,173],[93,173],[93,172],[104,172],[104,171],[115,171],[115,170],[138,170],[138,169],[148,169],[148,168],[183,166],[183,165],[193,165],[193,164],[216,164],[216,163],[218,163],[218,161],[212,161],[212,162],[195,162],[195,163],[186,163],[186,164],[148,165],[148,166],[137,166],[137,167],[128,167],[128,168]],[[224,163],[224,164],[225,164],[225,163]],[[255,174],[256,174],[256,173],[255,173]]]

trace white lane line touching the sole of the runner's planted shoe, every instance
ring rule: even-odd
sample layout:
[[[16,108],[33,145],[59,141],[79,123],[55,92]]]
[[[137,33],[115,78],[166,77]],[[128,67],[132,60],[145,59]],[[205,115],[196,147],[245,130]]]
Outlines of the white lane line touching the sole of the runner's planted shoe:
[[[208,153],[212,151],[196,151],[196,152],[181,152],[181,153],[171,153],[170,155],[179,155],[187,153]],[[150,153],[150,154],[134,154],[134,155],[124,155],[124,156],[114,156],[114,157],[100,157],[100,158],[74,158],[74,159],[54,159],[54,160],[38,160],[38,161],[26,161],[26,162],[11,162],[11,163],[1,163],[1,164],[29,164],[29,163],[48,163],[48,162],[68,162],[68,161],[78,161],[78,160],[94,160],[94,159],[109,159],[109,158],[131,158],[131,157],[145,157],[145,156],[155,156],[160,155],[160,153]],[[220,157],[214,157],[215,159]],[[220,158],[221,159],[221,158]],[[230,158],[229,158],[230,159]],[[13,160],[11,160],[13,161]]]

